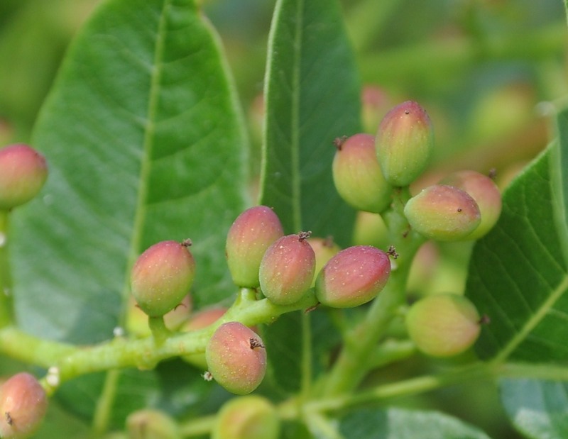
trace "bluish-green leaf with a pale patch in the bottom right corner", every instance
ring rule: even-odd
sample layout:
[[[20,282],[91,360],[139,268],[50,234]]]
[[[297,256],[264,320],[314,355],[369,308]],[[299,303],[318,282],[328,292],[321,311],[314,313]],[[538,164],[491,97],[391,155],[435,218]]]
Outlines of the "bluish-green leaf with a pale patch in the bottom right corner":
[[[568,436],[568,384],[536,379],[503,379],[501,400],[511,422],[527,438]]]

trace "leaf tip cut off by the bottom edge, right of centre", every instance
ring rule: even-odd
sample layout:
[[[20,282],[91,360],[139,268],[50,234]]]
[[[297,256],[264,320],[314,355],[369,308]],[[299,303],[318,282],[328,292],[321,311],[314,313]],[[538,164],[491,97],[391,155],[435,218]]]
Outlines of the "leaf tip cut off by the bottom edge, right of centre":
[[[435,411],[361,409],[342,418],[344,439],[488,439],[481,430]]]

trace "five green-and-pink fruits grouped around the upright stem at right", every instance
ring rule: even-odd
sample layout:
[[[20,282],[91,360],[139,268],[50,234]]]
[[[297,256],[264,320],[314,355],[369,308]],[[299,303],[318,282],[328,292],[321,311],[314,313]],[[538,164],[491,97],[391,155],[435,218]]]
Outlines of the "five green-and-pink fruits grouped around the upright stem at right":
[[[347,204],[382,215],[393,194],[408,188],[425,171],[434,147],[432,122],[415,101],[395,106],[376,135],[335,140],[333,178]],[[488,175],[462,170],[405,200],[403,215],[424,240],[465,241],[486,235],[501,214],[501,193]],[[468,349],[480,332],[474,304],[458,294],[426,296],[406,314],[408,335],[419,350],[435,357]]]

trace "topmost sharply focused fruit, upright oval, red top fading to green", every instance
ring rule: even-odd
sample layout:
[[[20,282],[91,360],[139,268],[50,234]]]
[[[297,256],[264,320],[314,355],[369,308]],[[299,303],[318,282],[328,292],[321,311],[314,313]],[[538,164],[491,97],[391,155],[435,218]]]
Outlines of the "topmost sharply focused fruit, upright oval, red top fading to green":
[[[434,130],[425,109],[405,101],[386,113],[375,148],[387,182],[397,187],[412,183],[427,167],[434,148]]]

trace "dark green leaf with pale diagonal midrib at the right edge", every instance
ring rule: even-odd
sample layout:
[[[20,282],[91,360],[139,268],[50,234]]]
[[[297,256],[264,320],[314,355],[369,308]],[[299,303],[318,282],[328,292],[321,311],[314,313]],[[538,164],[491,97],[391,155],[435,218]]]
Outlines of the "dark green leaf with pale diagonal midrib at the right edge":
[[[476,343],[483,358],[568,358],[568,273],[554,226],[551,156],[548,148],[515,179],[496,227],[474,247],[466,294],[491,319]]]

